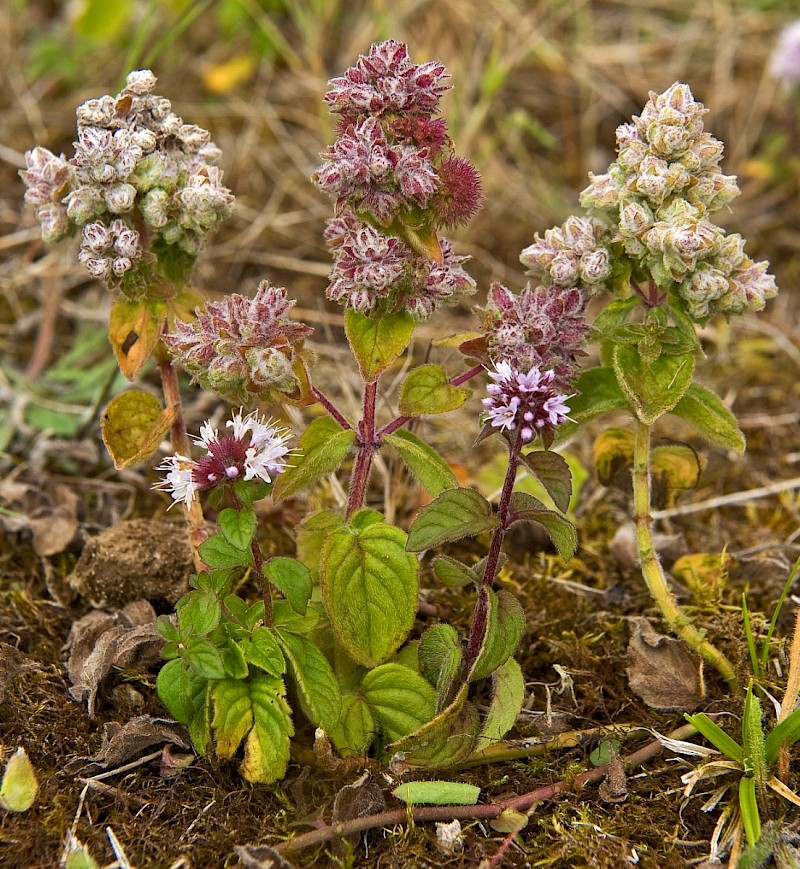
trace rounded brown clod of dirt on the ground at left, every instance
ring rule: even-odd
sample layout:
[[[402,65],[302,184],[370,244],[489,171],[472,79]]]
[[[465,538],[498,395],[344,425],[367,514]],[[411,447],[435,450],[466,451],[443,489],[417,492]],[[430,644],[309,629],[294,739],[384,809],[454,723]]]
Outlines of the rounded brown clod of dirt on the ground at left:
[[[93,537],[68,581],[97,607],[123,607],[142,598],[174,604],[193,569],[182,524],[131,519]]]

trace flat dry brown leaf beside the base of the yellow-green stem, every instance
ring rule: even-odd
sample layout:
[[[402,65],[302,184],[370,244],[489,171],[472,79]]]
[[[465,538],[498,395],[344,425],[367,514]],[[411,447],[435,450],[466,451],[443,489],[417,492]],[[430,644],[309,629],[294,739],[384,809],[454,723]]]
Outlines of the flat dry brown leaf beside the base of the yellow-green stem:
[[[628,643],[628,684],[652,709],[690,712],[705,696],[703,662],[680,640],[636,619]]]

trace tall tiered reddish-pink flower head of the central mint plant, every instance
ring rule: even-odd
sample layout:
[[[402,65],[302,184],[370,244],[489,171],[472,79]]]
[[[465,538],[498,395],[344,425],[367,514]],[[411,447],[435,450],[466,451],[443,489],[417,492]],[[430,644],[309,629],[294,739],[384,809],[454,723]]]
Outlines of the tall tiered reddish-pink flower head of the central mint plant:
[[[362,314],[405,309],[424,320],[474,292],[464,258],[437,236],[469,221],[483,200],[477,170],[454,154],[436,117],[447,79],[443,64],[414,64],[405,45],[388,40],[330,81],[325,101],[339,135],[313,176],[335,199],[327,294]]]

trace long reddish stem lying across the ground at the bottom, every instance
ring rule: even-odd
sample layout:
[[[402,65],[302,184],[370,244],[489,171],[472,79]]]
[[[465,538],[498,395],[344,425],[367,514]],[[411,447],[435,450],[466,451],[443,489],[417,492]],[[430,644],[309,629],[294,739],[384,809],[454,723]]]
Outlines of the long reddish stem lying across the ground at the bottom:
[[[673,730],[668,737],[670,739],[688,739],[697,733],[697,729],[691,724],[684,724]],[[622,758],[627,770],[635,769],[647,761],[661,754],[663,745],[660,740],[654,739],[647,745]],[[553,800],[570,792],[579,791],[582,787],[594,782],[602,781],[609,773],[609,765],[598,766],[587,770],[578,776],[569,776],[555,784],[545,785],[530,791],[519,797],[502,802],[488,803],[479,806],[425,806],[424,808],[397,809],[390,812],[380,812],[375,815],[367,815],[363,818],[355,818],[352,821],[342,821],[338,824],[325,824],[321,829],[310,833],[303,833],[294,839],[281,842],[275,846],[275,851],[281,855],[294,854],[306,848],[316,845],[324,845],[332,839],[353,836],[366,830],[374,830],[380,827],[393,827],[403,823],[423,823],[425,821],[452,821],[496,818],[509,809],[515,812],[528,812],[537,803],[545,800]]]

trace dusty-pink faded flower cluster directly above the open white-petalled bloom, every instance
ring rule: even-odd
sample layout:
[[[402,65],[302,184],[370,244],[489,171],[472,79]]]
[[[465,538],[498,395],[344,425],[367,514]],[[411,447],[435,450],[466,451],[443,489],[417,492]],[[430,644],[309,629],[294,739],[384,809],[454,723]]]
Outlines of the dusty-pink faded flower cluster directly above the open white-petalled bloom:
[[[262,281],[253,298],[206,302],[164,343],[197,383],[235,404],[299,401],[307,387],[303,341],[314,330],[289,318],[294,304],[283,287]]]

